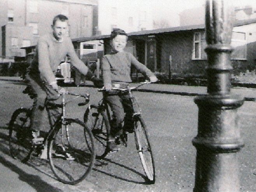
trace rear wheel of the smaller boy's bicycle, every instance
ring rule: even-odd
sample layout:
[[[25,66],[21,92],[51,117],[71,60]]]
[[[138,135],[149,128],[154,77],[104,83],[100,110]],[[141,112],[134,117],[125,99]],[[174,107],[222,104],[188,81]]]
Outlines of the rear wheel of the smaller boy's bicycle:
[[[109,152],[107,150],[108,133],[106,120],[107,115],[98,112],[98,107],[94,105],[91,105],[90,108],[88,107],[84,113],[84,123],[93,133],[96,159],[103,159]]]

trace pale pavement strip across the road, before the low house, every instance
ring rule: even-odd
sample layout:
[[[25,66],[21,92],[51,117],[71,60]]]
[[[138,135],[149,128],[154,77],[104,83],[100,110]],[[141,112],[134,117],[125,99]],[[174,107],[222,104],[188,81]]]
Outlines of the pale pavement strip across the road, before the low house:
[[[0,77],[0,81],[23,82],[20,77]],[[135,85],[136,83],[134,83]],[[242,85],[242,84],[241,84]],[[93,87],[91,81],[86,81],[81,84],[84,87]],[[137,91],[149,93],[163,93],[163,94],[176,94],[181,96],[200,96],[207,94],[207,87],[203,86],[183,86],[183,85],[170,85],[170,84],[147,84],[139,87]],[[232,87],[231,94],[236,94],[244,97],[245,101],[256,100],[256,88],[246,87]]]

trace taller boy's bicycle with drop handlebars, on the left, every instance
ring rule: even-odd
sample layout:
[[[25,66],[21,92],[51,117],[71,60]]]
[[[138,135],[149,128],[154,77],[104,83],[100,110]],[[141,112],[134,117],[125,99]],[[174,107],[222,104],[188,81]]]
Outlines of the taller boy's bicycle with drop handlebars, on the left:
[[[49,100],[45,102],[51,129],[42,144],[32,145],[31,108],[19,108],[9,122],[9,147],[11,156],[24,163],[32,157],[49,159],[56,178],[74,185],[91,171],[95,162],[95,144],[91,130],[81,120],[67,118],[65,108],[79,97],[85,98],[85,102],[78,105],[87,105],[89,94],[75,94],[61,89],[60,95],[61,104]],[[66,101],[66,95],[76,97]]]

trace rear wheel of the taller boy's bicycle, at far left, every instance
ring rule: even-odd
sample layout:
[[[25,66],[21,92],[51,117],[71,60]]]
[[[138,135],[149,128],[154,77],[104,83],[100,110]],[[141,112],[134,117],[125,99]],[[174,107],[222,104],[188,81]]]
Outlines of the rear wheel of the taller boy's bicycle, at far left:
[[[12,158],[26,162],[32,152],[30,129],[31,110],[19,108],[9,122],[9,149]]]

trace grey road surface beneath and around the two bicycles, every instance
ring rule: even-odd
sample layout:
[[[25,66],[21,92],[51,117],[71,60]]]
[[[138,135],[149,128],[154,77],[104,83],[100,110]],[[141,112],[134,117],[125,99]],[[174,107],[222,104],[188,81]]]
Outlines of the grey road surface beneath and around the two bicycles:
[[[0,81],[0,163],[1,191],[192,191],[195,179],[196,149],[192,139],[197,133],[198,108],[192,96],[134,92],[142,109],[153,148],[156,167],[156,183],[146,185],[145,174],[139,155],[135,150],[134,137],[128,138],[128,147],[111,153],[103,160],[97,160],[93,171],[81,183],[69,186],[58,182],[46,161],[22,164],[11,158],[8,152],[8,130],[12,113],[17,108],[30,107],[32,100],[22,93],[24,85],[19,82]],[[86,91],[91,102],[101,99],[102,93],[95,88],[67,87],[75,93]],[[82,120],[86,106],[67,106],[70,117]],[[256,103],[246,101],[238,109],[238,125],[245,147],[238,153],[240,161],[241,191],[256,191]],[[47,127],[47,125],[46,125]],[[4,174],[3,174],[4,173]],[[14,175],[7,179],[5,175]],[[16,183],[24,183],[24,188]],[[27,188],[26,188],[27,186]],[[39,187],[40,186],[40,187]],[[83,186],[87,188],[84,189]]]

